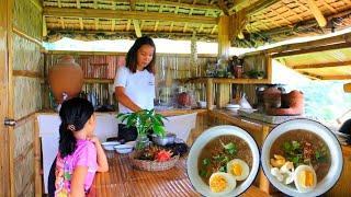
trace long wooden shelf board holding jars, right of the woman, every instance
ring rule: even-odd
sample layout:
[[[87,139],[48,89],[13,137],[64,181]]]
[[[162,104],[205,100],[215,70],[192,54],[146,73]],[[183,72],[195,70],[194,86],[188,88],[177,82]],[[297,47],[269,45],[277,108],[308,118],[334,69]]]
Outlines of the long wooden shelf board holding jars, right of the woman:
[[[176,79],[181,83],[206,83],[207,80],[212,79],[213,83],[228,83],[228,84],[269,84],[271,83],[268,79],[228,79],[228,78],[184,78]]]

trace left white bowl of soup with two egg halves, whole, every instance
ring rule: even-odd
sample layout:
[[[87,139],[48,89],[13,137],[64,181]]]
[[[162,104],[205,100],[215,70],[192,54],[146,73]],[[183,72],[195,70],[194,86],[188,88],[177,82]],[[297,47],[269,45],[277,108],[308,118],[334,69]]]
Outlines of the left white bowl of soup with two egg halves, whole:
[[[238,196],[250,187],[260,164],[253,138],[235,126],[205,130],[190,149],[188,176],[203,196]]]

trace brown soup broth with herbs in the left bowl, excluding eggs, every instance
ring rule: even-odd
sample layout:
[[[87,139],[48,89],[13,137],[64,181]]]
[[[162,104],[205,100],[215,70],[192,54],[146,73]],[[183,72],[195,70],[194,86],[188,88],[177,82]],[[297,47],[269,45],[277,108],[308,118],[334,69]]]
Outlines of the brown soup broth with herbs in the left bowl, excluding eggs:
[[[208,185],[210,176],[213,173],[226,172],[226,164],[233,159],[245,161],[251,170],[252,153],[245,140],[231,135],[219,136],[211,140],[201,151],[197,160],[199,174],[203,182]]]

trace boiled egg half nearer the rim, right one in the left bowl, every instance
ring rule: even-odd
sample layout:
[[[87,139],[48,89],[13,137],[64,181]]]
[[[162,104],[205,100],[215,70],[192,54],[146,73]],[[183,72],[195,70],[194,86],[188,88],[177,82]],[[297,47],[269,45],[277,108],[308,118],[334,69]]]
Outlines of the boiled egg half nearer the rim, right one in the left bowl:
[[[249,165],[240,160],[234,159],[227,163],[227,172],[231,174],[236,181],[244,181],[249,176]]]

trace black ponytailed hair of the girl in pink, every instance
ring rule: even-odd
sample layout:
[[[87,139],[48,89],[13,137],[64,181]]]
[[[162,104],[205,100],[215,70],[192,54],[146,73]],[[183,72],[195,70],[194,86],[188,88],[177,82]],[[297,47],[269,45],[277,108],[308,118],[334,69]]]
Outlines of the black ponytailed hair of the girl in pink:
[[[92,104],[81,97],[73,97],[63,103],[59,111],[61,124],[59,126],[58,144],[61,158],[75,152],[77,141],[73,132],[81,130],[93,113]]]

